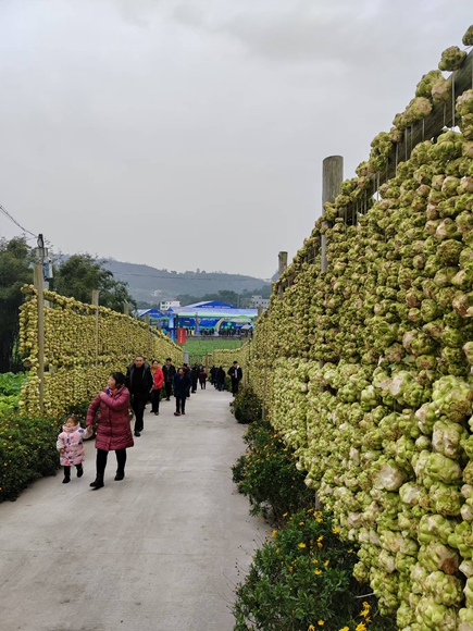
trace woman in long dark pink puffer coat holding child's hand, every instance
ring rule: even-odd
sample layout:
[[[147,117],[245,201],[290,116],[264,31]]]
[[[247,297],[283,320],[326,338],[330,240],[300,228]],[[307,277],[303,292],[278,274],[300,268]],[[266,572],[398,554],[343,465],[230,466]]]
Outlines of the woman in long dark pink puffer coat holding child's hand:
[[[125,387],[125,375],[122,372],[112,372],[107,386],[96,396],[87,412],[86,423],[92,425],[100,409],[96,440],[97,477],[90,484],[94,490],[103,486],[109,451],[115,451],[116,455],[115,480],[125,478],[126,449],[135,444],[129,426],[129,392]]]

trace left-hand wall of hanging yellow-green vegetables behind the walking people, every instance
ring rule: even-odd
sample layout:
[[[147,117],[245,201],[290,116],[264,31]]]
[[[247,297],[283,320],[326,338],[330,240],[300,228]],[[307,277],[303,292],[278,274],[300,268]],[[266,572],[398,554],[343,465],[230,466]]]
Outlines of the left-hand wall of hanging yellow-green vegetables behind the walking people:
[[[38,307],[33,286],[23,288],[20,351],[30,369],[20,409],[39,415]],[[155,329],[128,316],[45,292],[45,413],[61,416],[92,399],[112,371],[126,372],[137,354],[148,360],[172,357],[181,364],[182,349]]]

